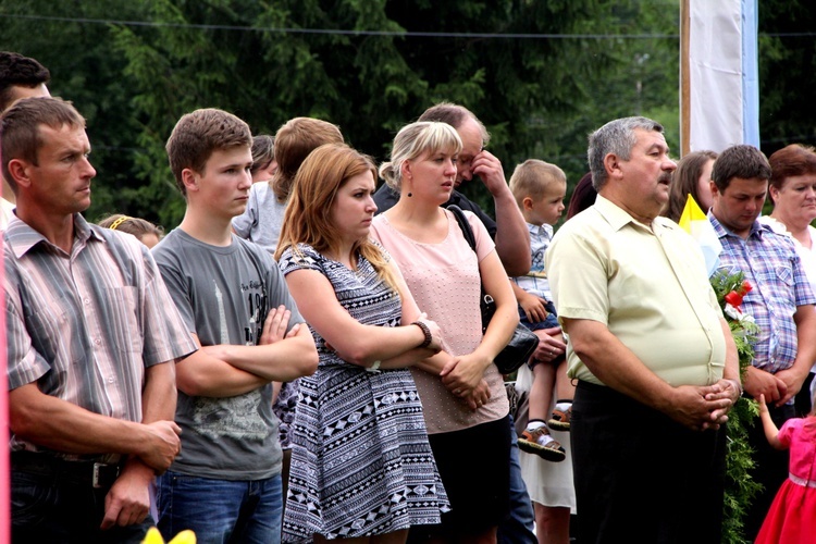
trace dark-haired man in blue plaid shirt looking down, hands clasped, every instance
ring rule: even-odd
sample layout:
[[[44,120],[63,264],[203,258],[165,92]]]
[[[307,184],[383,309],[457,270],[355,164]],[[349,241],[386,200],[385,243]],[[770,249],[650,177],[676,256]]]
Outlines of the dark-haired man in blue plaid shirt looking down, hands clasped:
[[[794,417],[793,397],[816,360],[816,297],[789,237],[774,233],[756,218],[768,190],[770,165],[753,146],[726,149],[712,172],[714,206],[708,219],[722,244],[720,265],[742,271],[753,289],[742,310],[759,325],[756,355],[743,379],[746,395],[765,395],[778,426]],[[746,516],[745,536],[753,540],[779,485],[788,477],[788,452],[772,449],[759,418],[749,430],[755,449],[753,478],[764,485]]]

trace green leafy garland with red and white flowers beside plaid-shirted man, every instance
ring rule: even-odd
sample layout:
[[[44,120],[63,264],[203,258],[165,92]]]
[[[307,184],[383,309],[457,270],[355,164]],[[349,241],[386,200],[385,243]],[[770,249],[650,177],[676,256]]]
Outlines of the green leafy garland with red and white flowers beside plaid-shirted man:
[[[754,359],[759,326],[754,318],[742,311],[742,300],[752,286],[742,272],[730,273],[720,269],[710,277],[712,287],[717,295],[722,313],[731,329],[737,353],[740,358],[740,375]],[[740,398],[728,415],[728,450],[726,468],[726,497],[724,505],[722,542],[745,543],[743,518],[749,504],[761,485],[756,483],[749,470],[753,468],[753,450],[747,444],[747,425],[758,416],[757,405],[746,398]]]

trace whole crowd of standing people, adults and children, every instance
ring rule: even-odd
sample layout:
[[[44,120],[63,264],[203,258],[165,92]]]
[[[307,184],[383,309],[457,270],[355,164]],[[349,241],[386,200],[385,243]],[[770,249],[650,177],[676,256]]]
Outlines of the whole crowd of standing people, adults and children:
[[[717,543],[743,395],[745,536],[814,534],[812,148],[676,163],[659,123],[618,119],[567,207],[557,165],[508,183],[458,104],[379,166],[325,121],[252,135],[199,109],[168,135],[186,209],[165,234],[83,217],[85,120],[49,77],[0,53],[15,542]],[[458,190],[474,177],[495,220]],[[742,374],[676,223],[690,195],[752,286]],[[518,326],[537,346],[512,384],[493,360]]]

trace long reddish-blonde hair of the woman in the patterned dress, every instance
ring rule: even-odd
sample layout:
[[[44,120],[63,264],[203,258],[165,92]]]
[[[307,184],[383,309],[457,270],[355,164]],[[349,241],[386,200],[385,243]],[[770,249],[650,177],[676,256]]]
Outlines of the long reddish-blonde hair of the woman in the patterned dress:
[[[280,259],[286,248],[300,255],[298,244],[307,244],[321,254],[336,250],[339,237],[330,210],[339,188],[351,177],[366,172],[371,173],[372,180],[376,178],[371,158],[344,144],[326,144],[309,153],[295,175],[275,259]],[[357,240],[351,252],[369,261],[378,276],[397,290],[396,277],[378,245],[367,237]]]

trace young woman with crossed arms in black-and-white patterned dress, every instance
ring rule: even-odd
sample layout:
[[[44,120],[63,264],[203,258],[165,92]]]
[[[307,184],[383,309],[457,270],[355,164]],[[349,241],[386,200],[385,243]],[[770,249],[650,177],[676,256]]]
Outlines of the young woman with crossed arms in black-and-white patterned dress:
[[[290,429],[286,542],[403,543],[448,509],[407,370],[440,351],[440,330],[368,237],[375,173],[349,147],[322,146],[286,208],[276,257],[320,356]]]

